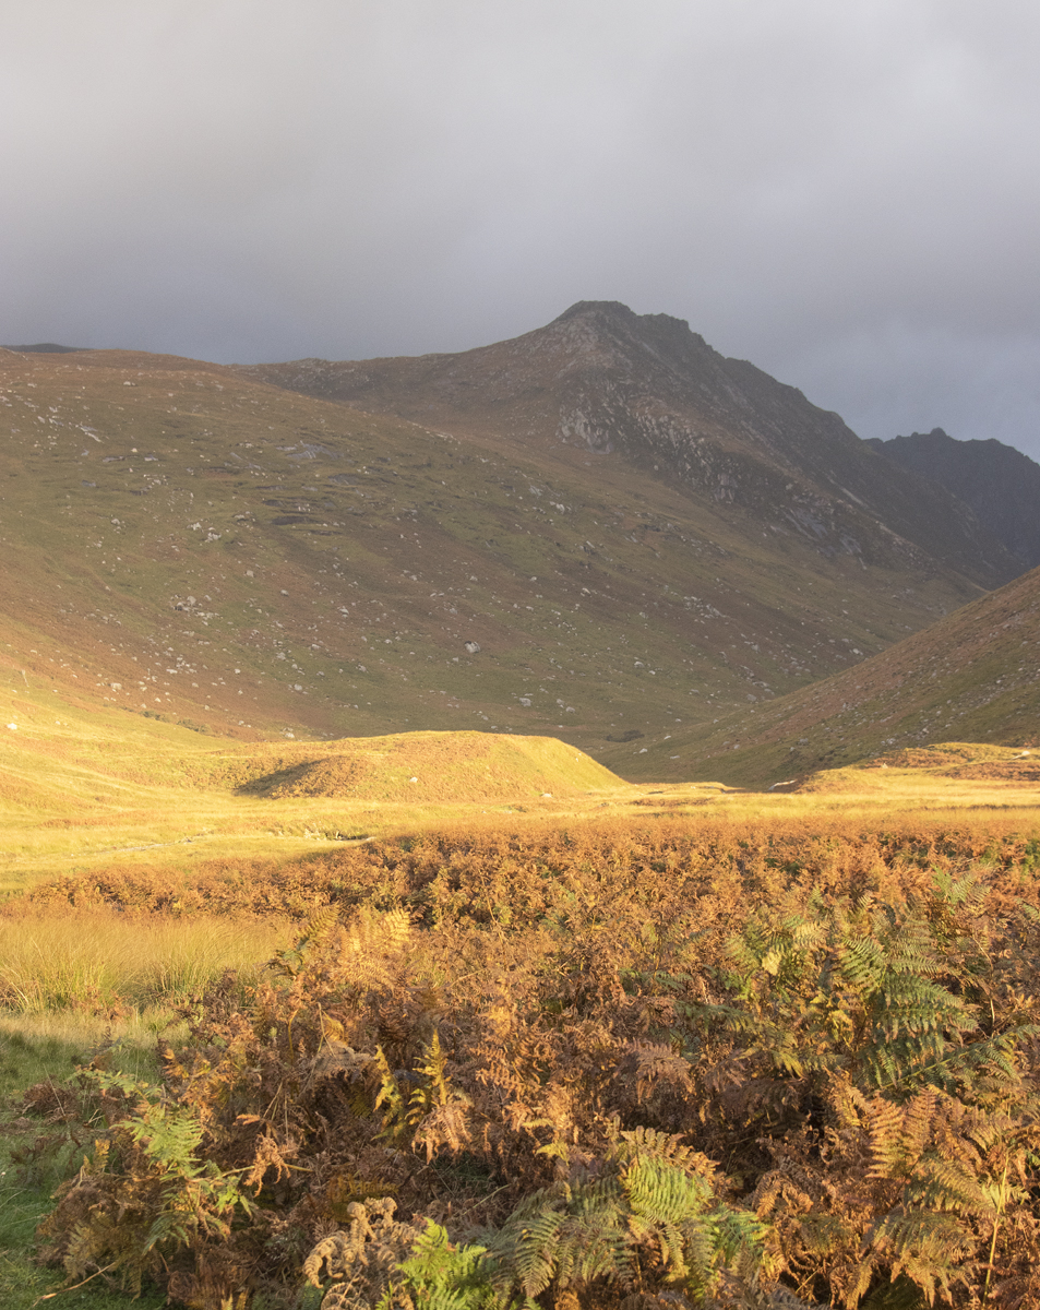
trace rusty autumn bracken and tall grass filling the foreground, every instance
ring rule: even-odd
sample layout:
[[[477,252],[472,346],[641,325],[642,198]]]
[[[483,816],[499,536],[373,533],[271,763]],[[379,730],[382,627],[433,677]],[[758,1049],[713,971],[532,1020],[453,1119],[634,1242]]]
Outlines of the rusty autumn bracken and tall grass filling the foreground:
[[[942,776],[969,755],[28,882],[7,1061],[51,1066],[8,1176],[58,1272],[21,1282],[1035,1303],[1040,827],[986,760]]]

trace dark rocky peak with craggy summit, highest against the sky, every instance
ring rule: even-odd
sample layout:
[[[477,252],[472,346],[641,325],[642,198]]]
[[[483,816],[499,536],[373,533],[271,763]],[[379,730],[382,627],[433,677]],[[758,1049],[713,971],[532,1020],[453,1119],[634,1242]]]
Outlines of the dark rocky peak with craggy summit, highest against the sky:
[[[299,360],[244,372],[458,435],[621,458],[829,555],[998,586],[1022,571],[927,477],[895,469],[837,414],[668,314],[579,301],[545,328],[456,355]]]

